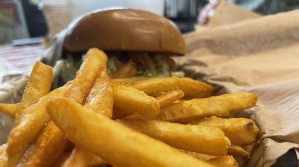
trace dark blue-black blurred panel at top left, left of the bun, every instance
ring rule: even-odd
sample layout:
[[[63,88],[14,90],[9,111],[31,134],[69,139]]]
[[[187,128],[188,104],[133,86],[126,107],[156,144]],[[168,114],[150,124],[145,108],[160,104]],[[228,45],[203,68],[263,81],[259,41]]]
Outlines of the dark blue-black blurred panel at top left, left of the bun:
[[[21,0],[30,37],[42,37],[48,32],[44,15],[37,5]]]

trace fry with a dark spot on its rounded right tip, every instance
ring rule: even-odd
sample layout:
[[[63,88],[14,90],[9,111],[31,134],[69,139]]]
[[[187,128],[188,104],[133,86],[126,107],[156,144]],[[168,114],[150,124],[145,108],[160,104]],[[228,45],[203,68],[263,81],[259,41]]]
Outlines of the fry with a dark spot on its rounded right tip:
[[[189,122],[194,124],[195,122]],[[247,118],[219,118],[211,116],[196,124],[210,125],[220,128],[233,144],[248,146],[256,141],[259,128],[255,122]]]

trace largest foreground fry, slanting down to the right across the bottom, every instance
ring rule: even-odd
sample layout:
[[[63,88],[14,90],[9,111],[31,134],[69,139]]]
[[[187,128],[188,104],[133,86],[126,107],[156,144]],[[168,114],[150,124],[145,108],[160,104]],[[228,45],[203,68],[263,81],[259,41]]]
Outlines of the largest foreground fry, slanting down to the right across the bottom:
[[[66,98],[53,98],[47,111],[67,139],[114,166],[213,167]]]

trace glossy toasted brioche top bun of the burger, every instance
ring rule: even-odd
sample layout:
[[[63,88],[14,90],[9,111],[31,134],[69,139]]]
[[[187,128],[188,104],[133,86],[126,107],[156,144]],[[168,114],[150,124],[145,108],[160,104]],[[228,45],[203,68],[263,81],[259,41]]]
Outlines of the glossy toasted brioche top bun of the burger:
[[[143,51],[183,55],[184,39],[166,18],[135,9],[92,12],[72,22],[64,41],[69,52],[89,48],[104,51]]]

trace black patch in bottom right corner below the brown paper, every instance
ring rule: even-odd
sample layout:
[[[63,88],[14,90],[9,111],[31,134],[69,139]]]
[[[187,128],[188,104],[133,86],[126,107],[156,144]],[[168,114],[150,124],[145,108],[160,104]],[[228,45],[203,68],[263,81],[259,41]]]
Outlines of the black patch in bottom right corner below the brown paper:
[[[296,152],[299,152],[299,148],[290,149],[287,153],[277,158],[271,167],[299,167],[299,158]]]

